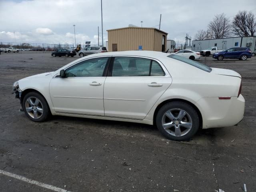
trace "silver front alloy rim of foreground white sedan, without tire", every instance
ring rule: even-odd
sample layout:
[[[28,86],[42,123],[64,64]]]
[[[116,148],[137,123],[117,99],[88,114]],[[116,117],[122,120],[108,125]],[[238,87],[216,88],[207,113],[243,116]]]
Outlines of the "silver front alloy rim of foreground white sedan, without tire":
[[[25,102],[26,112],[34,119],[39,119],[44,112],[42,102],[36,97],[29,97]]]

